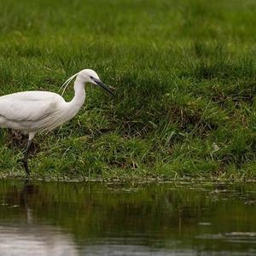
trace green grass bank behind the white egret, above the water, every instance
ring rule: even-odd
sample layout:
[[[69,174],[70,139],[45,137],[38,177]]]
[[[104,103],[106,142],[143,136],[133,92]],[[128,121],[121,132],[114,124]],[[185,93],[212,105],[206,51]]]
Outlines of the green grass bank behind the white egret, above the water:
[[[116,88],[87,86],[76,118],[36,138],[35,177],[256,177],[256,3],[1,2],[0,95],[88,67]],[[0,131],[2,176],[23,174],[25,144]]]

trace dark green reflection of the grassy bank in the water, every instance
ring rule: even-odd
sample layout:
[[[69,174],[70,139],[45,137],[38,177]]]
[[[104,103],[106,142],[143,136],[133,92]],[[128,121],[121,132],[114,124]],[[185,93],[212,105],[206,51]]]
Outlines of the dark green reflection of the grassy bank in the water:
[[[222,236],[256,230],[255,191],[253,184],[114,186],[5,180],[0,222],[54,226],[72,234],[81,247],[112,239],[153,248],[232,251],[234,245]],[[221,238],[213,239],[217,235]],[[247,240],[235,247],[249,248]]]

